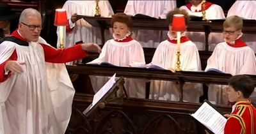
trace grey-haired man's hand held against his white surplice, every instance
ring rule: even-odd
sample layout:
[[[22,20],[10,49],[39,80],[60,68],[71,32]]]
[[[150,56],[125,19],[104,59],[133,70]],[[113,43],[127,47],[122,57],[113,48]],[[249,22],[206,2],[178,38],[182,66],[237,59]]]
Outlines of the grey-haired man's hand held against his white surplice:
[[[7,61],[7,63],[5,64],[5,70],[12,71],[12,73],[22,73],[22,64],[25,64],[25,62]]]

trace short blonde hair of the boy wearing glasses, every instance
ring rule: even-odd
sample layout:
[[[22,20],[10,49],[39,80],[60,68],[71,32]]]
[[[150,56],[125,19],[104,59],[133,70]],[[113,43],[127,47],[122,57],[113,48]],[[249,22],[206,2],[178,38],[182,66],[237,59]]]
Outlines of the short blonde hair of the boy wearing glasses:
[[[243,29],[243,20],[237,15],[232,15],[223,22],[223,27],[235,27],[236,30],[241,30]]]

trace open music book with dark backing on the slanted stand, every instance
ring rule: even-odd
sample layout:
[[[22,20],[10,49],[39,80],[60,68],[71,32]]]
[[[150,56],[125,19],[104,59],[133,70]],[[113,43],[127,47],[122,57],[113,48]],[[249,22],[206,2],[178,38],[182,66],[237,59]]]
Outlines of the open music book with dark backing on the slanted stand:
[[[115,78],[116,78],[116,73],[108,80],[108,82],[106,82],[106,84],[104,84],[104,86],[102,86],[99,89],[99,91],[97,91],[97,93],[94,94],[92,104],[89,105],[89,107],[87,107],[86,110],[84,110],[83,112],[84,115],[88,114],[88,112],[90,112],[90,110],[93,107],[96,107],[99,101],[102,100],[102,98],[104,98],[104,96],[106,98],[106,95],[110,94],[109,93],[110,89],[116,83]]]

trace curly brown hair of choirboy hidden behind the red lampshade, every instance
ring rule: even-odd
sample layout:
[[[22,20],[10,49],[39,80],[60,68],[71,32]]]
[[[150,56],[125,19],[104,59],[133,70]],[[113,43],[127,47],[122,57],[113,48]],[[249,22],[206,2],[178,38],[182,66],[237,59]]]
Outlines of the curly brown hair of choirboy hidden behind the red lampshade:
[[[172,24],[173,15],[175,15],[175,14],[182,14],[182,15],[184,15],[186,26],[188,26],[189,21],[190,21],[188,12],[186,10],[180,10],[179,8],[175,8],[174,10],[169,11],[167,13],[166,19],[168,20],[169,24]]]

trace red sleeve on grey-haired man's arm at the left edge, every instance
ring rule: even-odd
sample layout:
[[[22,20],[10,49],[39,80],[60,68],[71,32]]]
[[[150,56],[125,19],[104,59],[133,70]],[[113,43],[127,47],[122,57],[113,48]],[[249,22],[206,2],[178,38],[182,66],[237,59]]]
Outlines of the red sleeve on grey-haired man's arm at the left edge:
[[[15,60],[17,61],[17,53],[16,50],[14,50],[12,56],[7,60]],[[4,82],[5,80],[7,80],[7,78],[9,78],[12,74],[9,72],[8,75],[5,75],[5,70],[4,67],[7,63],[7,61],[4,61],[4,63],[0,64],[0,82]]]

